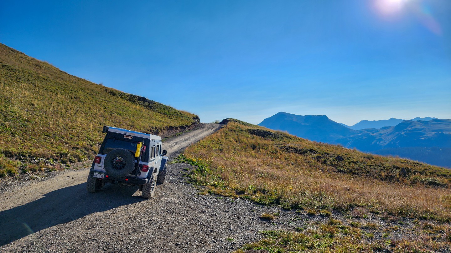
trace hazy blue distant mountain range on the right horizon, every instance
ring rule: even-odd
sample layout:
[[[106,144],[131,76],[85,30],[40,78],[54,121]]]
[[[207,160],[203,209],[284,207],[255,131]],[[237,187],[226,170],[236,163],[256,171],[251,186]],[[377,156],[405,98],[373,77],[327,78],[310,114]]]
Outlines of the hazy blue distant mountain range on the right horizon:
[[[380,125],[393,123],[396,120],[399,121],[394,118],[386,121],[361,121],[360,125],[364,126],[368,122]],[[258,125],[287,131],[308,140],[451,167],[451,158],[448,155],[451,154],[451,120],[449,119],[414,118],[401,120],[395,126],[354,130],[329,119],[326,115],[302,116],[280,112],[265,118]]]

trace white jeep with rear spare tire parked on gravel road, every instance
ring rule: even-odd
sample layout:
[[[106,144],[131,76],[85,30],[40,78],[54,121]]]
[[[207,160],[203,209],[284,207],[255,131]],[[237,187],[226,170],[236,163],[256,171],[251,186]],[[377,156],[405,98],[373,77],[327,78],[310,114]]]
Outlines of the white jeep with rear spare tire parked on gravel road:
[[[150,199],[156,183],[164,183],[166,150],[161,137],[116,127],[103,127],[105,139],[92,162],[87,190],[98,192],[106,183],[139,185],[142,197]]]

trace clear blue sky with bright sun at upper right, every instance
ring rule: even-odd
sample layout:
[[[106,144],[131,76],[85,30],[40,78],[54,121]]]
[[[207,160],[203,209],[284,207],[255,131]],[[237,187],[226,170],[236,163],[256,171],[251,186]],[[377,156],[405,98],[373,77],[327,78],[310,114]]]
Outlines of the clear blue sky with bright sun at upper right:
[[[451,1],[9,1],[0,42],[198,114],[451,118]]]

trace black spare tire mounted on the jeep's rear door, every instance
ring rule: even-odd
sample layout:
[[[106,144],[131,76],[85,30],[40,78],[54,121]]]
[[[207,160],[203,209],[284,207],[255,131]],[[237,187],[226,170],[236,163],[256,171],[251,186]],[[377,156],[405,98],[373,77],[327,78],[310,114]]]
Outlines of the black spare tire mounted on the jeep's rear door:
[[[121,178],[133,171],[135,158],[127,149],[113,149],[106,154],[103,167],[110,178]]]

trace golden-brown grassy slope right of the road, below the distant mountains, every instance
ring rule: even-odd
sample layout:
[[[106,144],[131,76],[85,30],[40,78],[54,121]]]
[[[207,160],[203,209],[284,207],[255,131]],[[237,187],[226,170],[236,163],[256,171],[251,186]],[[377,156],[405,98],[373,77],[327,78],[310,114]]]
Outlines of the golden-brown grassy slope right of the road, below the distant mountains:
[[[451,171],[312,142],[229,119],[186,149],[190,177],[214,194],[354,217],[451,220]]]

